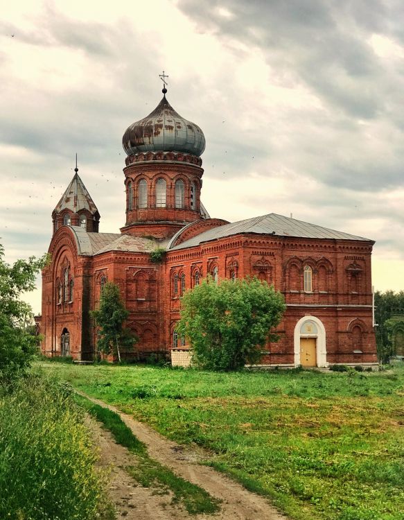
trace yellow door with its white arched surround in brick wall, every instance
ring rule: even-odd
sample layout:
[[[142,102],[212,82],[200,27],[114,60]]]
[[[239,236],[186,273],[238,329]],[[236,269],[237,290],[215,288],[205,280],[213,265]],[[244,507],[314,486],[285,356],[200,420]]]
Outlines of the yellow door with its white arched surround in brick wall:
[[[326,329],[315,316],[304,316],[295,327],[295,366],[326,367]]]

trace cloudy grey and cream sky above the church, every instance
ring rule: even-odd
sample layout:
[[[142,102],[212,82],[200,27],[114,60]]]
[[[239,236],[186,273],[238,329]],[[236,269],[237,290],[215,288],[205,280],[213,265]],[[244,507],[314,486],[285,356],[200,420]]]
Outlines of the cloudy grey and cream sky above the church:
[[[100,232],[125,223],[125,129],[161,99],[202,128],[202,201],[376,241],[404,289],[402,0],[0,0],[0,243],[49,248],[79,175]],[[26,295],[40,311],[37,291]]]

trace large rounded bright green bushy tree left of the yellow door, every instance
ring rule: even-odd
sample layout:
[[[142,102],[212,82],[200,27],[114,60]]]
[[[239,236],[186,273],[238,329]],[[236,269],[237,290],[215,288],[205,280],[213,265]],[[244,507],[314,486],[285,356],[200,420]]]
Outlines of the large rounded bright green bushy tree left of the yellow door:
[[[176,331],[193,349],[193,363],[209,370],[237,370],[257,363],[270,331],[286,309],[283,295],[265,281],[211,277],[182,297]]]

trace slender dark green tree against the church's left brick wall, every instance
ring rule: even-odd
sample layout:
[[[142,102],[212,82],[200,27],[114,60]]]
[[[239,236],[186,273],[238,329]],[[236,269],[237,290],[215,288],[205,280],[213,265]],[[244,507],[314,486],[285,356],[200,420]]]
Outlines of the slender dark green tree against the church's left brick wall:
[[[132,348],[136,338],[123,327],[129,312],[125,309],[119,287],[108,281],[100,297],[100,306],[91,315],[99,327],[98,349],[103,354],[114,354],[121,361],[121,350]]]

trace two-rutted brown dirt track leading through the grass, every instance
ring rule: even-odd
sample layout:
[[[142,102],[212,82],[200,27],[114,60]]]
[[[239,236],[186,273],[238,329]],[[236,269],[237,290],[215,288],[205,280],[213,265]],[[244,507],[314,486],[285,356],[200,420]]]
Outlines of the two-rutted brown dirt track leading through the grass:
[[[95,404],[109,408],[120,415],[125,424],[132,430],[139,440],[148,448],[150,457],[172,469],[175,474],[199,485],[212,496],[222,500],[222,508],[218,514],[212,515],[216,520],[286,520],[283,514],[273,508],[262,496],[247,491],[225,475],[213,468],[197,464],[202,458],[209,455],[202,450],[197,451],[166,439],[146,424],[135,421],[130,415],[120,412],[114,406],[78,392]],[[193,515],[192,517],[182,509],[169,505],[167,496],[157,496],[150,489],[137,486],[125,473],[122,467],[130,465],[130,458],[134,457],[128,450],[116,444],[108,432],[98,427],[98,442],[100,444],[104,463],[112,462],[113,482],[112,499],[118,503],[118,511],[127,520],[177,519],[193,518],[208,519],[210,515]],[[132,458],[133,465],[133,458]],[[116,488],[117,483],[122,485]],[[121,503],[121,505],[119,505]]]

